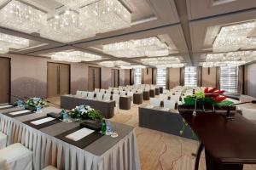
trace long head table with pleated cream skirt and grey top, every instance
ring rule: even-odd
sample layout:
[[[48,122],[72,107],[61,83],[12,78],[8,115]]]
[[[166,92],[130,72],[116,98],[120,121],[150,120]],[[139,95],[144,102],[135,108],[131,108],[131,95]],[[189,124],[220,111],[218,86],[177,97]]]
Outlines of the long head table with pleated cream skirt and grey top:
[[[19,142],[32,150],[35,170],[48,165],[65,170],[140,169],[136,134],[131,126],[112,122],[115,132],[119,134],[117,138],[95,132],[100,135],[99,138],[81,147],[84,137],[67,140],[67,134],[82,129],[80,122],[54,120],[32,126],[35,120],[42,121],[45,117],[49,118],[47,113],[59,113],[61,109],[44,107],[42,113],[18,115],[14,111],[24,111],[24,108],[0,111],[0,131],[8,135],[8,145]]]

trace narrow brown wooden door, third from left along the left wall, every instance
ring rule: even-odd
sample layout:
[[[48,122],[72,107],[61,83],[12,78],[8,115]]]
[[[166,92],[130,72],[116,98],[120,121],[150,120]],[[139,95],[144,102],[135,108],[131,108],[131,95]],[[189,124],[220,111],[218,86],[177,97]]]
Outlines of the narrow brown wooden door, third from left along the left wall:
[[[95,88],[101,88],[101,68],[89,67],[88,90],[94,91]]]

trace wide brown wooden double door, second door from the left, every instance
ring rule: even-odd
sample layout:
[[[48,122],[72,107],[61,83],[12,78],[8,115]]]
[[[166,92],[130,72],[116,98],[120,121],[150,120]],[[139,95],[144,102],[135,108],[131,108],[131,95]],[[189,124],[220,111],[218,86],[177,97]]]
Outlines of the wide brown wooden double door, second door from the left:
[[[59,63],[47,64],[47,96],[55,97],[69,94],[70,65]]]

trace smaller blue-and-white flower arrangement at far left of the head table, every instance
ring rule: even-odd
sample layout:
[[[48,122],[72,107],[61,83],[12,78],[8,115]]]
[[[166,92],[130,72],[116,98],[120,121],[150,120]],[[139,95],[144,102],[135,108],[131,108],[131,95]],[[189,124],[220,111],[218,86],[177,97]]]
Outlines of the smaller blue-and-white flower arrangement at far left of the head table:
[[[41,98],[29,98],[25,102],[25,108],[29,109],[30,111],[37,111],[38,107],[43,108],[47,105],[47,102]]]

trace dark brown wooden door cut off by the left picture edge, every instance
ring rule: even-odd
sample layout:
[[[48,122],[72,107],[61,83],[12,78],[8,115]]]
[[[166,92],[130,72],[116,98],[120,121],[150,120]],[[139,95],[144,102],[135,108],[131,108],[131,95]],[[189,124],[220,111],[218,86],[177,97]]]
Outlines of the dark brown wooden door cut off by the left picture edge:
[[[10,99],[10,59],[0,57],[0,104]]]

